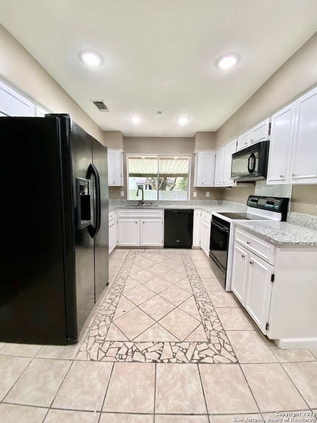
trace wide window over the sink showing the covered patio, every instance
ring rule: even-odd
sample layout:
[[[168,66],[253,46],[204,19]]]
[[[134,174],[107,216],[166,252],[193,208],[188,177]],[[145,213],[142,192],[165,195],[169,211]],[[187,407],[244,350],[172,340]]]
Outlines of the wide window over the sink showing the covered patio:
[[[144,200],[188,200],[190,156],[127,155],[128,199],[136,200],[143,188]]]

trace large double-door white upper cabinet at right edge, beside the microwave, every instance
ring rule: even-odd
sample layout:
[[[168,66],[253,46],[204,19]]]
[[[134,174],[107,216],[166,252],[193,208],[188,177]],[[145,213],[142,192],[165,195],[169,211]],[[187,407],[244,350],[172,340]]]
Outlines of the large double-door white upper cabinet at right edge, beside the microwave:
[[[272,117],[267,184],[317,183],[317,88]]]

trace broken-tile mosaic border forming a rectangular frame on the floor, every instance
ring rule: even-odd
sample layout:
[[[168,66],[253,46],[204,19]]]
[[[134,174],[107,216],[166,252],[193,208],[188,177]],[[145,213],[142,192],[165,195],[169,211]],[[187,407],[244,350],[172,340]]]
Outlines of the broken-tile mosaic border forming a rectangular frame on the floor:
[[[117,304],[137,254],[180,254],[207,342],[106,341]],[[130,250],[83,341],[76,360],[137,363],[237,363],[188,250]]]

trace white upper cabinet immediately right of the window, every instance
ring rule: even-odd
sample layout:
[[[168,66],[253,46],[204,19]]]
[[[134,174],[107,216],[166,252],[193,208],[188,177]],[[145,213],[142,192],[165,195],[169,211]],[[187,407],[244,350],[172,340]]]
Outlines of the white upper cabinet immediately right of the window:
[[[195,154],[194,186],[213,186],[214,151],[198,151]]]

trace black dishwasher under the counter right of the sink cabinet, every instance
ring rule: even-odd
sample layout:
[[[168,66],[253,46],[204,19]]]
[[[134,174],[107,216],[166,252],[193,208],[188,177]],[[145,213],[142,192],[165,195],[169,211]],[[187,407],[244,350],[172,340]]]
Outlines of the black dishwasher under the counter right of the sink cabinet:
[[[164,248],[191,248],[194,209],[164,210]]]

